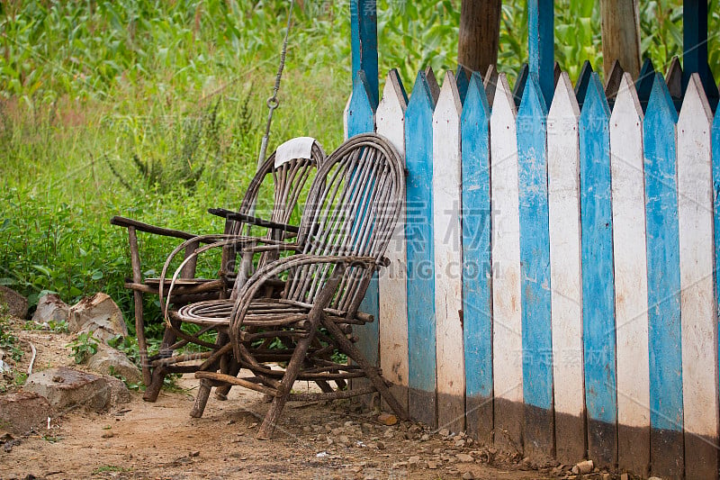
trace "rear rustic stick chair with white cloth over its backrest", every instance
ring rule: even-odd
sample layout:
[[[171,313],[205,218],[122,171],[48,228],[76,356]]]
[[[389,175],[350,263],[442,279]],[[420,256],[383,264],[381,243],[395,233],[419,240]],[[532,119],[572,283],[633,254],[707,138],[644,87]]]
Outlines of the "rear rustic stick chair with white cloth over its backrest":
[[[304,148],[302,145],[304,144]],[[293,153],[293,145],[301,146],[302,153]],[[284,149],[284,147],[290,149]],[[317,168],[325,158],[320,143],[310,138],[293,139],[281,145],[266,161],[257,169],[255,177],[250,181],[247,191],[237,211],[232,212],[222,209],[211,209],[211,213],[220,215],[226,219],[224,234],[236,236],[247,231],[252,226],[266,229],[266,237],[270,239],[284,239],[297,234],[298,227],[288,225],[291,215],[298,207],[302,209],[303,192],[307,194],[306,186],[313,177]],[[265,190],[272,190],[266,192]],[[255,216],[260,196],[272,198],[270,207],[270,219],[263,220]],[[222,249],[220,259],[219,275],[216,278],[195,277],[196,261],[191,258],[191,253],[202,242],[212,240],[198,237],[186,231],[177,231],[137,222],[128,218],[115,216],[111,223],[128,229],[130,240],[130,260],[132,265],[132,278],[127,279],[125,287],[133,291],[135,303],[135,329],[137,332],[140,361],[142,366],[143,382],[146,391],[143,398],[154,402],[162,387],[162,382],[167,373],[172,373],[172,367],[162,364],[163,358],[170,357],[175,349],[187,344],[187,340],[177,340],[179,329],[166,329],[166,333],[160,345],[159,353],[153,358],[148,358],[147,338],[145,331],[145,319],[143,316],[143,295],[160,294],[161,279],[157,277],[142,278],[142,264],[140,262],[137,231],[144,231],[156,235],[173,237],[187,240],[184,243],[185,258],[189,261],[184,263],[180,272],[180,279],[177,281],[173,302],[175,305],[208,300],[213,298],[227,298],[231,291],[235,278],[238,275],[237,255],[232,245]],[[272,257],[260,258],[258,265],[263,265]],[[251,275],[251,258],[240,262],[245,266],[243,275]],[[158,371],[162,370],[162,372]],[[162,375],[159,375],[162,373]],[[155,374],[155,375],[153,375]],[[153,382],[155,380],[155,382]],[[159,383],[158,383],[159,382]]]

